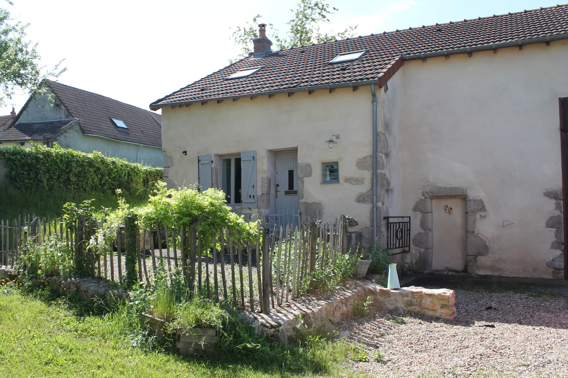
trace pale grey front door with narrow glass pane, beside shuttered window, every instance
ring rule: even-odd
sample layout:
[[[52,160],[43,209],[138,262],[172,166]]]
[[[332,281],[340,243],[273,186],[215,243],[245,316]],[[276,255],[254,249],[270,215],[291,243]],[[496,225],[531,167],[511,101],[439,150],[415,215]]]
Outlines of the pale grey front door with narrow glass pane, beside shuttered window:
[[[278,226],[299,224],[298,151],[274,152],[274,214]]]

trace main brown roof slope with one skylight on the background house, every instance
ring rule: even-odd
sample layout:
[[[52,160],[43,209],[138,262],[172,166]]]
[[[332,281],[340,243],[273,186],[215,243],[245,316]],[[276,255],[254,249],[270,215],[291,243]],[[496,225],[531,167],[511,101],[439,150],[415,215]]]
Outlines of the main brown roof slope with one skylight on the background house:
[[[47,84],[69,114],[79,119],[83,133],[162,146],[161,114],[61,83],[48,81]],[[117,128],[111,118],[124,121],[128,130]]]

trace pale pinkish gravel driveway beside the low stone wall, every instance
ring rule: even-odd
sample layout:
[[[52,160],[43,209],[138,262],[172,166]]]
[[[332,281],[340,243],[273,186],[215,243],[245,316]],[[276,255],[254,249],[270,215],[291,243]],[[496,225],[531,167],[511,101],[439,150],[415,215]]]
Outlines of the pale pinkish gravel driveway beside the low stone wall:
[[[341,323],[369,356],[352,368],[372,377],[568,377],[568,298],[456,294],[454,321],[375,311]],[[490,305],[498,311],[480,311]]]

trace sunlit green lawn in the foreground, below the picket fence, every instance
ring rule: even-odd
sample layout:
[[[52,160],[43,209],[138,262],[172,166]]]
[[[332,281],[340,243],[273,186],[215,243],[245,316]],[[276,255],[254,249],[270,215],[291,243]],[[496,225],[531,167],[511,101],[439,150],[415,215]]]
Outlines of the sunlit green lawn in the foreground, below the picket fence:
[[[200,359],[148,351],[132,346],[142,332],[135,317],[120,308],[106,316],[79,317],[62,298],[46,303],[10,288],[0,290],[0,319],[0,376],[14,378],[349,377],[341,362],[362,358],[344,341],[277,348],[239,360],[222,353]]]

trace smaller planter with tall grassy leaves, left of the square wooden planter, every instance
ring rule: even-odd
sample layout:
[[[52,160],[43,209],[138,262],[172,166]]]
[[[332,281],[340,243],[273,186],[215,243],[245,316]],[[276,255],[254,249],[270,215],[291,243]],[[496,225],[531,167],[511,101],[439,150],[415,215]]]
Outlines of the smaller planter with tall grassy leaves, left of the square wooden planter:
[[[172,320],[176,312],[176,299],[172,289],[167,286],[159,288],[151,303],[149,313],[140,314],[140,323],[142,328],[149,329],[151,336],[163,343],[166,323]]]

